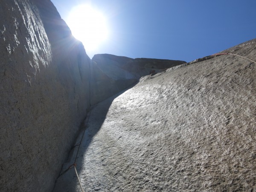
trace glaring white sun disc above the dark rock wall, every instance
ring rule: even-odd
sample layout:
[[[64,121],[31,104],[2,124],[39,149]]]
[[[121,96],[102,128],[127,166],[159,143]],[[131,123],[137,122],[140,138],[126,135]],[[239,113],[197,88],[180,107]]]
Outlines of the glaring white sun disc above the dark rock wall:
[[[109,32],[106,17],[90,5],[74,7],[67,19],[73,36],[93,51],[107,40]]]

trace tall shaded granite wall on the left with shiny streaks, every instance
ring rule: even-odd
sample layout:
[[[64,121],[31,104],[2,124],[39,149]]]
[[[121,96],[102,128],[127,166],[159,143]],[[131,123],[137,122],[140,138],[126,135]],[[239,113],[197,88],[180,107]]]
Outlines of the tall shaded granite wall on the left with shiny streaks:
[[[89,63],[50,0],[0,3],[0,190],[51,191],[89,108]]]

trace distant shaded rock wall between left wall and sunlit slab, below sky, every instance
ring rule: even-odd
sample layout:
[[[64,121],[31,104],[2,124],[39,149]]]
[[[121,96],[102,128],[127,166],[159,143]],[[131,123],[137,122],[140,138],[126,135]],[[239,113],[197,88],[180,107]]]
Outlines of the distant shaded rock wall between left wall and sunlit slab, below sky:
[[[170,67],[186,63],[167,59],[128,58],[110,54],[97,54],[92,58],[91,104],[107,99],[137,82],[140,77],[159,73]],[[154,74],[152,74],[154,75]]]

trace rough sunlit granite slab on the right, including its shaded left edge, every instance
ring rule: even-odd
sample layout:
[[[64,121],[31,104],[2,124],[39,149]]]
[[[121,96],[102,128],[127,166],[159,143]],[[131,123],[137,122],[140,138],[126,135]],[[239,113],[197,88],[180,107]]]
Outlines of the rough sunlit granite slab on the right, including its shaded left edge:
[[[256,39],[226,51],[256,61]],[[221,55],[148,77],[91,111],[85,191],[256,191],[256,64]],[[70,169],[54,191],[80,190]]]

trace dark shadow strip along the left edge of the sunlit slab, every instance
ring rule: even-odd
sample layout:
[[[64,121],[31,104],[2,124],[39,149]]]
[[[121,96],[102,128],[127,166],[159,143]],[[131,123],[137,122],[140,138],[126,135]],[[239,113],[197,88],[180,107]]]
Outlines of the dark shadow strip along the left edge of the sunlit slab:
[[[84,154],[87,151],[87,148],[90,147],[93,137],[97,134],[104,123],[113,100],[128,89],[134,87],[137,83],[138,82],[91,107],[90,112],[81,125],[81,131],[76,139],[75,145],[70,151],[67,162],[64,163],[61,173],[56,180],[53,192],[81,191],[80,187],[77,188],[79,186],[79,181],[76,176],[74,165],[76,165],[78,175],[81,175],[81,170],[86,169],[83,167],[86,166],[83,163],[85,157]],[[83,183],[82,180],[81,183]]]

